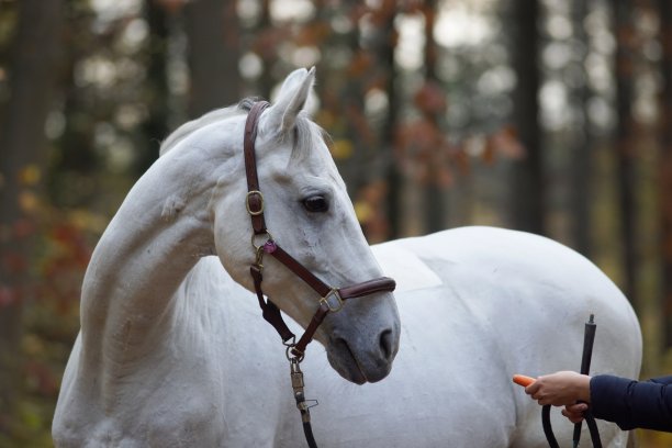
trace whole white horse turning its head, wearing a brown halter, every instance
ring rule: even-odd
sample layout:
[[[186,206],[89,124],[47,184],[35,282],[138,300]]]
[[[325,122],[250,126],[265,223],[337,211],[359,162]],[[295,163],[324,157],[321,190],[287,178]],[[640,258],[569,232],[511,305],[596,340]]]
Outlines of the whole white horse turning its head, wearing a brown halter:
[[[296,108],[281,104],[303,104],[312,82],[312,72],[290,76],[261,124],[272,123],[281,109],[283,116],[295,115]],[[229,139],[240,135],[242,121],[238,113],[224,110],[178,130],[165,144],[170,150],[149,170],[160,177],[154,190],[143,193],[136,187],[120,211],[131,221],[117,215],[112,235],[101,239],[85,280],[82,334],[66,369],[54,419],[57,446],[305,446],[283,347],[259,317],[256,298],[248,291],[246,270],[254,254],[249,219],[240,204],[244,169],[229,154],[240,152],[239,143]],[[344,272],[348,281],[378,276],[363,249],[337,260],[345,250],[338,245],[355,244],[348,240],[350,234],[358,235],[358,247],[361,242],[350,228],[349,204],[345,222],[338,221],[343,215],[331,216],[334,206],[327,215],[306,215],[296,208],[291,209],[292,216],[283,215],[282,205],[292,208],[292,200],[299,203],[315,194],[310,188],[294,190],[293,199],[279,194],[292,191],[289,183],[305,177],[301,172],[306,167],[316,173],[312,181],[331,184],[329,198],[338,192],[338,208],[345,210],[347,204],[341,182],[325,179],[325,172],[338,178],[322,145],[313,143],[318,154],[301,152],[302,157],[287,164],[291,142],[278,143],[273,135],[287,134],[288,128],[279,132],[267,124],[259,134],[269,226],[279,229],[276,236],[288,250],[323,278],[343,284]],[[226,153],[221,156],[226,169],[214,168],[222,166],[212,161],[216,152]],[[278,152],[284,154],[279,160],[273,156]],[[171,161],[161,165],[164,159]],[[170,167],[179,163],[186,165],[176,172]],[[172,182],[191,187],[217,169],[214,194],[195,184],[187,201],[170,187]],[[165,170],[176,173],[166,176]],[[324,188],[318,191],[325,194]],[[160,199],[150,198],[123,213],[132,198],[143,194]],[[206,198],[199,202],[199,195]],[[212,250],[208,247],[212,239],[204,243],[204,250],[184,250],[182,236],[171,229],[175,220],[154,224],[153,236],[145,231],[133,244],[126,243],[148,226],[142,219],[157,204],[159,209],[165,204],[164,215],[181,216],[189,225],[201,225],[211,216],[217,255],[228,273],[215,257],[199,260],[199,254]],[[202,212],[208,216],[198,219]],[[226,225],[217,224],[220,216],[226,216]],[[318,224],[328,228],[322,236],[324,227],[315,228],[313,220],[332,219],[334,224]],[[161,234],[170,250],[147,242]],[[335,245],[323,248],[317,234],[334,238]],[[299,242],[291,244],[292,238]],[[153,253],[146,254],[148,249]],[[594,265],[557,243],[519,232],[467,227],[387,243],[374,246],[373,253],[382,271],[397,281],[401,346],[388,378],[354,384],[382,379],[389,369],[389,365],[372,366],[381,358],[391,361],[394,349],[389,341],[383,347],[389,338],[381,335],[394,332],[396,338],[394,311],[385,295],[349,301],[341,312],[327,316],[317,339],[340,377],[318,346],[309,347],[302,363],[306,395],[320,401],[312,419],[321,447],[544,447],[540,407],[511,377],[576,370],[583,323],[591,313],[598,325],[592,372],[639,373],[641,337],[628,302]],[[314,311],[312,294],[275,259],[265,265],[265,289],[305,326]],[[134,293],[137,283],[126,283],[130,280],[141,282],[142,294]],[[295,296],[301,301],[292,302],[283,289],[299,291]],[[355,343],[344,336],[352,327]],[[355,351],[351,345],[363,344],[360,338],[369,340],[368,348]],[[558,440],[569,446],[572,425],[558,414],[553,413]],[[601,423],[600,428],[604,446],[625,447],[627,435],[615,425]],[[586,434],[583,439],[587,440]]]

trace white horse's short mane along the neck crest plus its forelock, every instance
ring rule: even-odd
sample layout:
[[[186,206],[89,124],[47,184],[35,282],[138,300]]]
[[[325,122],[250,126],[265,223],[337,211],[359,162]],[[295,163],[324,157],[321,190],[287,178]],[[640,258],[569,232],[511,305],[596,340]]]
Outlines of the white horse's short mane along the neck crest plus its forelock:
[[[221,120],[226,120],[232,116],[240,115],[249,112],[253,104],[259,101],[258,98],[245,98],[237,104],[229,105],[227,108],[216,109],[208,112],[204,115],[189,121],[166,137],[161,142],[159,148],[159,157],[168,153],[170,149],[176,147],[181,141],[193,134],[198,130],[205,127],[212,123],[216,123]],[[311,150],[317,147],[317,143],[321,141],[331,143],[331,137],[320,125],[313,123],[306,113],[301,112],[296,117],[296,127],[294,128],[295,144],[292,149],[291,160],[299,161],[305,158]]]

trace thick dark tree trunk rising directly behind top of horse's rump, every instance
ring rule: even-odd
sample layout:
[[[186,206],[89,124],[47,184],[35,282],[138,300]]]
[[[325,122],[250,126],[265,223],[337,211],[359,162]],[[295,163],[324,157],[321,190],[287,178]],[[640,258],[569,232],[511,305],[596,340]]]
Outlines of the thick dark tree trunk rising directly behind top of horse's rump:
[[[525,157],[513,166],[512,219],[515,228],[545,233],[544,160],[539,128],[539,4],[537,0],[512,1],[513,66],[517,76],[514,91],[514,123],[525,147]]]

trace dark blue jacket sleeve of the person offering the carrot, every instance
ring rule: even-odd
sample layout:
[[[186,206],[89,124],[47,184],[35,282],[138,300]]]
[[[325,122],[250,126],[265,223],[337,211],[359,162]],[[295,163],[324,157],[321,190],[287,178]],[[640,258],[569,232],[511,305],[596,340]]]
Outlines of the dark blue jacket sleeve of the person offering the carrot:
[[[595,418],[621,429],[645,428],[672,433],[672,377],[649,381],[600,374],[591,379],[591,408]]]

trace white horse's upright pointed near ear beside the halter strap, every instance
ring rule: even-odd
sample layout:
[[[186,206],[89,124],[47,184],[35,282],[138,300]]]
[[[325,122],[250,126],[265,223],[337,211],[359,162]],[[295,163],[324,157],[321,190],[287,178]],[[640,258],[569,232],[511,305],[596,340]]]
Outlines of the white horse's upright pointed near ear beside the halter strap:
[[[282,83],[278,100],[265,113],[267,130],[284,134],[294,127],[296,116],[306,107],[315,81],[315,67],[292,71]]]

